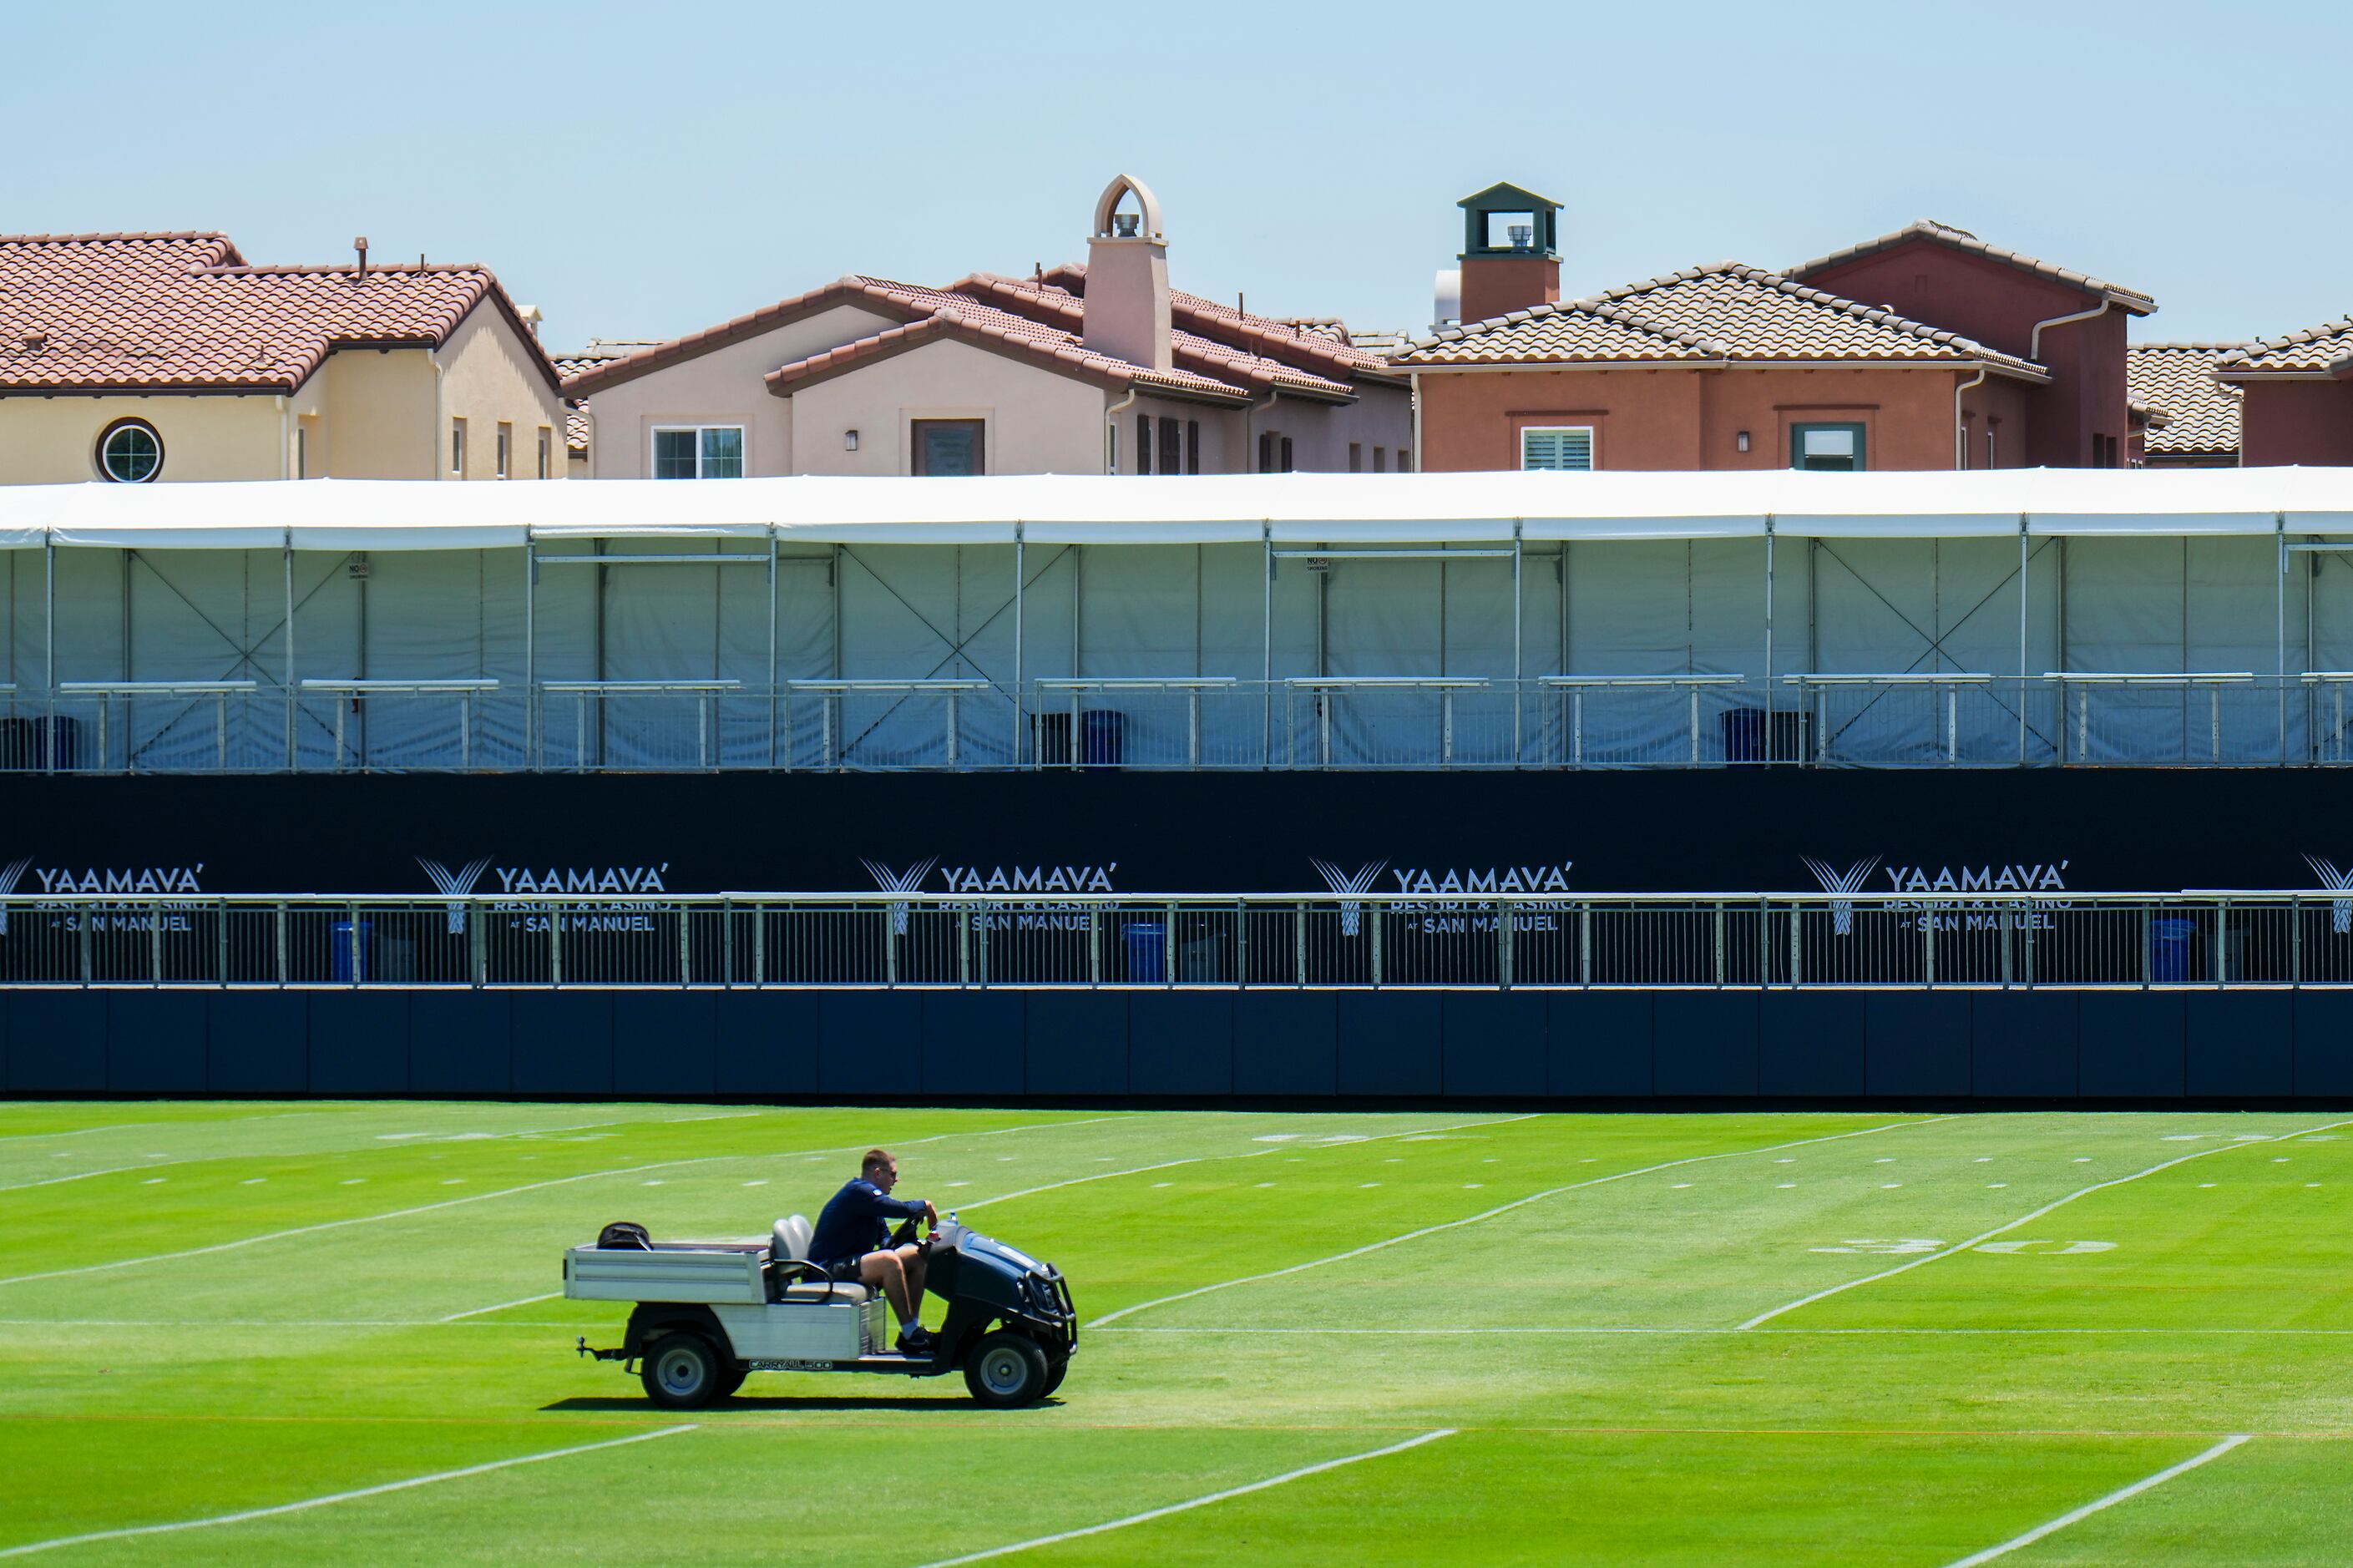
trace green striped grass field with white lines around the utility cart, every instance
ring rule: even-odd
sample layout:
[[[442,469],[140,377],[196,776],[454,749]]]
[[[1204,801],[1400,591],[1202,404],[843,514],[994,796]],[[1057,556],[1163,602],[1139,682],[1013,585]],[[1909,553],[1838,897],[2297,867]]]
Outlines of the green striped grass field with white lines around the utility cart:
[[[1071,1276],[1054,1401],[572,1354],[565,1245],[873,1142]],[[1934,1568],[2247,1436],[2000,1561],[2346,1563],[2348,1227],[2332,1114],[9,1104],[0,1554],[911,1568],[1353,1460],[1002,1561]]]

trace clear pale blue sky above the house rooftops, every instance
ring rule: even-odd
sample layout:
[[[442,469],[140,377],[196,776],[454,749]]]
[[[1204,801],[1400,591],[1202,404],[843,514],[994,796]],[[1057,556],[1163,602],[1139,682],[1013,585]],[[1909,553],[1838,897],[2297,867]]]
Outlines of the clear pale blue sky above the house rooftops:
[[[24,5],[0,231],[367,233],[562,348],[1082,259],[1129,172],[1179,287],[1421,327],[1511,179],[1569,294],[1937,217],[2268,337],[2353,311],[2348,49],[2325,2]]]

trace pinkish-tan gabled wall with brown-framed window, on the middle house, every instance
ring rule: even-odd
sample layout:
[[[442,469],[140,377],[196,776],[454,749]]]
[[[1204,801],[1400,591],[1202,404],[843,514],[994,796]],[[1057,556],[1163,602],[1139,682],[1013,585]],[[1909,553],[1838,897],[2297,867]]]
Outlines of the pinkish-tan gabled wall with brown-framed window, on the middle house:
[[[991,473],[1104,471],[1101,386],[953,339],[866,363],[791,403],[791,473],[911,473],[915,419],[986,419]],[[842,450],[842,431],[859,433],[856,452]]]

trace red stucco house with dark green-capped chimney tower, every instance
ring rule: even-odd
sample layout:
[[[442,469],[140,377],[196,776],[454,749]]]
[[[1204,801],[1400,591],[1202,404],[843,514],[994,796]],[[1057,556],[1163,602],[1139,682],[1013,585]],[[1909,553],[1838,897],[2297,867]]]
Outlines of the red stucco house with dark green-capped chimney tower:
[[[1555,202],[1489,186],[1459,205],[1464,315],[1487,315],[1393,360],[1424,469],[2127,457],[2125,318],[2155,308],[2134,290],[1913,224],[1788,273],[1718,261],[1562,301]]]

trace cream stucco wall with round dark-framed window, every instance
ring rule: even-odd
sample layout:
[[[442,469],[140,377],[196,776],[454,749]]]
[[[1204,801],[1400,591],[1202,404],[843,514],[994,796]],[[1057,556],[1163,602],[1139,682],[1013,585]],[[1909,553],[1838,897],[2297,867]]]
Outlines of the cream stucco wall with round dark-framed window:
[[[160,480],[280,478],[278,398],[0,398],[0,485],[99,478],[99,433],[146,419],[162,438]]]

